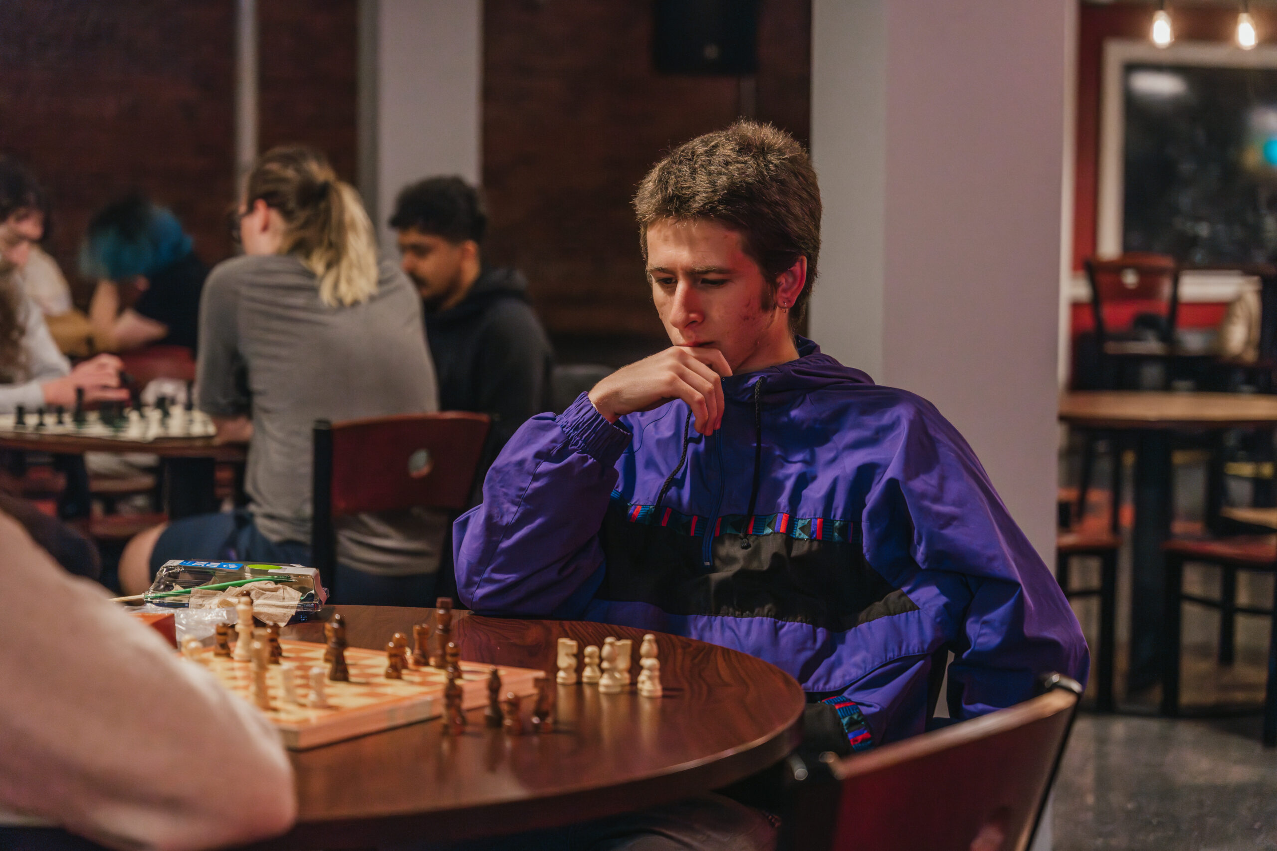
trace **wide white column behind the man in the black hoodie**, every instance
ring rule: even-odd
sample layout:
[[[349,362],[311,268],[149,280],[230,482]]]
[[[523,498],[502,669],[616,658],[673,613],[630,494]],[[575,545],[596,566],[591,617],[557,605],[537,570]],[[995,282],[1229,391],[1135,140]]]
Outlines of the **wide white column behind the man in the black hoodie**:
[[[483,4],[480,0],[364,0],[360,23],[360,182],[386,219],[405,184],[430,175],[480,180]],[[372,8],[369,8],[372,4]],[[372,79],[370,79],[372,78]],[[375,98],[368,103],[368,98]],[[368,125],[375,128],[369,130]],[[375,145],[375,156],[368,152]],[[375,172],[375,179],[370,172]]]

